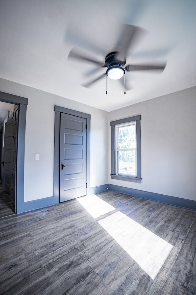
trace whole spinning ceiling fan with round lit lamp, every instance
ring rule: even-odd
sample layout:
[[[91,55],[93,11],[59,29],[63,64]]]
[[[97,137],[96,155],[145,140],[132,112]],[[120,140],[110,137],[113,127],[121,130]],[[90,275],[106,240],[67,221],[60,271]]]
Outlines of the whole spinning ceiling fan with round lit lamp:
[[[166,67],[166,63],[162,64],[126,64],[126,53],[129,49],[133,47],[135,41],[137,41],[138,36],[144,32],[144,29],[134,25],[123,25],[123,30],[120,35],[120,38],[115,45],[114,51],[109,52],[106,57],[105,61],[100,62],[94,58],[89,57],[87,54],[81,54],[78,49],[71,49],[68,55],[68,58],[74,58],[79,60],[84,60],[101,68],[107,68],[106,72],[101,76],[97,77],[96,79],[92,80],[89,83],[83,84],[84,87],[89,87],[96,81],[104,78],[104,76],[109,77],[113,80],[119,80],[125,75],[126,72],[130,71],[141,71],[141,70],[158,70],[163,72],[164,68]],[[125,76],[124,76],[125,77]],[[107,81],[107,80],[106,80]],[[106,82],[107,83],[107,82]],[[107,87],[107,84],[106,84]],[[125,88],[125,79],[124,79],[124,88]],[[107,94],[107,88],[106,88]],[[126,91],[124,91],[126,94]]]

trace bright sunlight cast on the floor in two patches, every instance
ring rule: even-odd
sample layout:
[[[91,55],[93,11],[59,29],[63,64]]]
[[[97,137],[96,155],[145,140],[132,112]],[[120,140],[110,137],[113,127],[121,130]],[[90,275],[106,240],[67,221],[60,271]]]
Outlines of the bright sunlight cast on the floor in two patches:
[[[94,218],[112,213],[98,223],[154,280],[173,246],[122,212],[112,212],[116,209],[95,195],[77,201]]]

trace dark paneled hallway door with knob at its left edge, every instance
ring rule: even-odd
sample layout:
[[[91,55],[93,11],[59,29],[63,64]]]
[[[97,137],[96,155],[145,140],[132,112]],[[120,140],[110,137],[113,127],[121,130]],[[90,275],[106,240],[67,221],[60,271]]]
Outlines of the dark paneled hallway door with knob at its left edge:
[[[12,123],[13,117],[5,123],[4,149],[3,149],[3,190],[10,195],[10,172],[11,172],[11,148],[12,148]],[[13,200],[15,202],[15,199]]]

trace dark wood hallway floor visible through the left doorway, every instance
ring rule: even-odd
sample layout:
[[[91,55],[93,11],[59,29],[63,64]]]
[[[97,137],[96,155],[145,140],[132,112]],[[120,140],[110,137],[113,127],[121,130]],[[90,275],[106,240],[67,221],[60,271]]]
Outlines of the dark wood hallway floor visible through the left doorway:
[[[15,214],[15,204],[13,200],[3,191],[2,184],[0,184],[0,218]]]

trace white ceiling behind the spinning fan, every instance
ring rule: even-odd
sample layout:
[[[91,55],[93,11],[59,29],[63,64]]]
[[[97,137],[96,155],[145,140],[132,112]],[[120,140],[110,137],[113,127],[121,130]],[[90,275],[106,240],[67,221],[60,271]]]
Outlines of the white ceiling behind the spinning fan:
[[[0,77],[106,111],[196,85],[195,0],[1,0]],[[122,24],[148,33],[127,63],[167,60],[161,75],[126,72],[132,90],[116,80],[80,84],[104,73],[67,60],[73,47],[100,61],[115,45]]]

